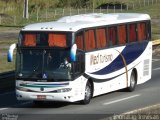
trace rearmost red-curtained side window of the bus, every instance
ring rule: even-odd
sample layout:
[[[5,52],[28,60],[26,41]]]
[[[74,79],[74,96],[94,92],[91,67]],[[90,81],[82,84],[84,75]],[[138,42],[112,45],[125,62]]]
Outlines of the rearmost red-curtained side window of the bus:
[[[146,24],[145,22],[141,22],[137,24],[137,30],[138,30],[138,40],[143,41],[146,40]]]

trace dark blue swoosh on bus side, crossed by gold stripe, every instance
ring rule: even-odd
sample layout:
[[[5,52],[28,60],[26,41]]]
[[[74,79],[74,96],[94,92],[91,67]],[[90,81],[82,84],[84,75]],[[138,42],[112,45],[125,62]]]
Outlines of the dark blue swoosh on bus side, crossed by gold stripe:
[[[126,64],[129,65],[131,62],[136,60],[144,52],[147,45],[148,45],[148,41],[126,45],[126,47],[122,51],[122,55],[126,60]],[[123,67],[124,67],[124,63],[123,63],[122,57],[118,55],[118,57],[114,59],[111,64],[91,74],[105,75],[105,74],[109,74],[114,71],[120,70]]]

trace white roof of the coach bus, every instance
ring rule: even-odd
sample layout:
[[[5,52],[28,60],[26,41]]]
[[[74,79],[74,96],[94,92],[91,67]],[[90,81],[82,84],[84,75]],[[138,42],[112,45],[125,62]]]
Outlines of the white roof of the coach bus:
[[[140,13],[91,13],[65,16],[57,21],[30,24],[22,31],[78,31],[82,28],[112,25],[118,23],[150,20],[148,14]]]

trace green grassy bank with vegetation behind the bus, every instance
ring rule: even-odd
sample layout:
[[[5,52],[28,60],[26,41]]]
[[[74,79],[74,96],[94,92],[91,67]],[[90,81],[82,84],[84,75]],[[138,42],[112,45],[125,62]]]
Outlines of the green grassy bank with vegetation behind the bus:
[[[0,25],[22,27],[27,24],[54,21],[62,16],[92,12],[138,12],[152,18],[153,39],[160,36],[159,0],[28,0],[29,19],[23,18],[23,0],[0,0]],[[125,4],[126,9],[95,9],[106,3]],[[94,8],[94,9],[93,9]],[[1,27],[0,26],[0,27]],[[0,30],[2,31],[2,30]]]

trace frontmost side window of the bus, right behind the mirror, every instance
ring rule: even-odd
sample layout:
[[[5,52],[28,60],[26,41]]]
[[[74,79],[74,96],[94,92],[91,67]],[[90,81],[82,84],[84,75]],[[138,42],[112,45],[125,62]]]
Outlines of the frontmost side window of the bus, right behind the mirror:
[[[75,43],[76,43],[78,49],[84,50],[84,43],[83,42],[84,42],[83,32],[77,33]]]

